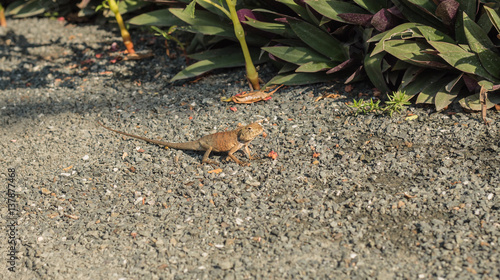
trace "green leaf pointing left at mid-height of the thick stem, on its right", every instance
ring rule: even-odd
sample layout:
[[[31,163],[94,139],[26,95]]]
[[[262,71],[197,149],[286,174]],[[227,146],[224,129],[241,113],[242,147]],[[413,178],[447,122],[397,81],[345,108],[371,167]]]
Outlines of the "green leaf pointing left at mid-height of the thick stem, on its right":
[[[263,47],[262,49],[280,59],[299,65],[311,61],[330,62],[328,58],[310,48],[277,46]]]

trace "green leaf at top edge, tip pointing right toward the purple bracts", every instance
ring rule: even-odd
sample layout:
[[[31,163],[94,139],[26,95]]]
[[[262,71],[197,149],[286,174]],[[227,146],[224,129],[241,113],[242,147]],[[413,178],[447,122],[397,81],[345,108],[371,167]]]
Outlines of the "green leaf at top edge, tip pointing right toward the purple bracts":
[[[321,15],[331,18],[336,21],[346,22],[342,18],[340,18],[339,14],[345,13],[354,13],[354,14],[365,14],[366,11],[362,8],[343,1],[334,1],[334,0],[313,0],[307,1],[306,4],[311,6],[316,12]]]

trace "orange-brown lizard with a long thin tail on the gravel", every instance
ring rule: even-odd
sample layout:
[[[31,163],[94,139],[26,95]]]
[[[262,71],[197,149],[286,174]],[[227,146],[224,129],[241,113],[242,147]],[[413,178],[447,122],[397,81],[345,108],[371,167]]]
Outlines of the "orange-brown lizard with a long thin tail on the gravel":
[[[185,143],[169,143],[169,142],[163,142],[145,138],[142,136],[126,133],[123,131],[114,130],[112,128],[104,126],[100,122],[97,123],[107,130],[111,130],[116,133],[141,139],[168,148],[179,149],[179,150],[205,151],[205,154],[203,155],[203,159],[201,160],[201,162],[208,164],[215,164],[215,165],[217,165],[217,163],[208,159],[208,156],[210,155],[211,152],[227,152],[228,157],[226,158],[226,160],[231,158],[234,162],[236,162],[239,165],[250,165],[249,163],[245,163],[236,158],[233,155],[233,153],[244,147],[245,148],[244,151],[247,154],[248,159],[250,160],[254,159],[250,154],[250,149],[248,148],[248,144],[250,144],[250,141],[255,139],[255,137],[259,136],[259,134],[261,134],[264,131],[259,122],[254,122],[247,126],[240,126],[235,130],[217,132],[214,134],[206,135],[196,141],[190,141]]]

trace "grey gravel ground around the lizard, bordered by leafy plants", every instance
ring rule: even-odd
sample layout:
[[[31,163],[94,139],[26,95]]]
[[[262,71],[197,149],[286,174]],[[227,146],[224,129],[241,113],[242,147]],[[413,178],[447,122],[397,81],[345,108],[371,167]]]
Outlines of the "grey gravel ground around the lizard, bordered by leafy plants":
[[[116,29],[8,23],[0,31],[0,211],[2,225],[9,208],[19,214],[18,259],[8,263],[2,230],[0,278],[500,277],[498,113],[488,112],[490,126],[456,106],[411,107],[412,121],[408,112],[355,116],[345,102],[370,88],[346,93],[335,83],[232,105],[220,98],[247,88],[242,69],[172,84],[184,60],[166,57],[161,40],[137,39],[152,59],[112,63]],[[263,78],[271,71],[263,66]],[[315,101],[324,93],[340,97]],[[263,118],[267,137],[251,146],[261,159],[241,167],[215,154],[220,173],[199,164],[203,153],[95,123],[182,142]]]

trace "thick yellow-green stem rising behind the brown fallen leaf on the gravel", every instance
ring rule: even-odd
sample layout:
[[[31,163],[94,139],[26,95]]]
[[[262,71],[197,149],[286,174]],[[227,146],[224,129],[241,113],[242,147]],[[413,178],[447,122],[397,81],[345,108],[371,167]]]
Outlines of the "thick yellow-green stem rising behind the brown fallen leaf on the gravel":
[[[236,14],[236,0],[226,0],[226,3],[229,8],[229,13],[231,14],[231,20],[233,21],[234,33],[240,42],[241,50],[243,51],[243,56],[245,57],[247,79],[254,90],[260,90],[259,74],[253,65],[252,57],[250,56],[247,42],[245,40],[245,31],[243,30],[243,26],[241,26],[241,23],[238,20],[238,15]]]

